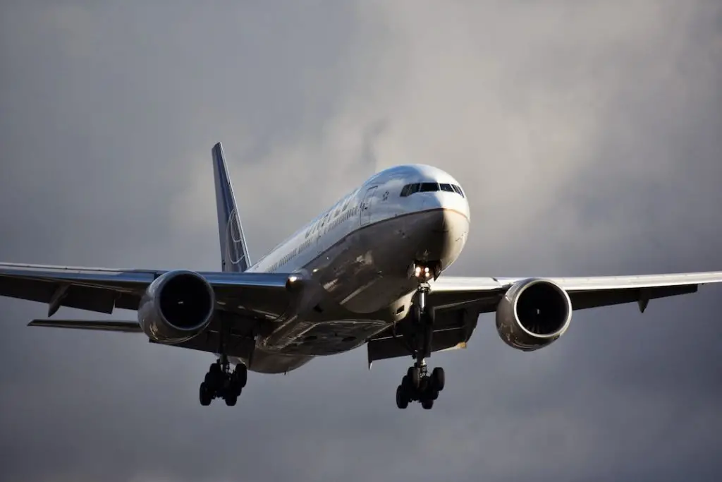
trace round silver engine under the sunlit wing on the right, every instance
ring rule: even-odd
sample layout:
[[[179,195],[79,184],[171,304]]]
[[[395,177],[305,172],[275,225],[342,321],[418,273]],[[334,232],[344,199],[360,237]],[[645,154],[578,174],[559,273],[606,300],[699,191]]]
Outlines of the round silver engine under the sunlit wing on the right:
[[[556,283],[530,278],[515,283],[499,302],[497,332],[512,348],[538,350],[557,340],[572,320],[569,294]]]

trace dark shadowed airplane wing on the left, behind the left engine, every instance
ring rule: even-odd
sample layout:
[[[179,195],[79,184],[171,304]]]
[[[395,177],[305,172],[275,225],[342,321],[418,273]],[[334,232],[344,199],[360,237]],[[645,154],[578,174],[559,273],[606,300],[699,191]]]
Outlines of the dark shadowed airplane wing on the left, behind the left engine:
[[[110,314],[138,309],[161,270],[113,270],[0,263],[0,296],[48,304],[48,317],[60,306]],[[288,274],[199,272],[212,285],[217,309],[248,317],[279,317],[290,303]]]

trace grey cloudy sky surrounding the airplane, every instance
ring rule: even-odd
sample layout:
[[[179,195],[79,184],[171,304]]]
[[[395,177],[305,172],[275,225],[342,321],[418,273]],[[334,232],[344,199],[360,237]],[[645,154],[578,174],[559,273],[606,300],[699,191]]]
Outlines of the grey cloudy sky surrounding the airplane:
[[[0,61],[4,261],[217,269],[222,140],[256,258],[414,162],[469,192],[454,275],[722,270],[718,1],[6,1]],[[721,298],[484,316],[431,412],[365,349],[202,408],[212,356],[2,298],[0,479],[717,480]]]

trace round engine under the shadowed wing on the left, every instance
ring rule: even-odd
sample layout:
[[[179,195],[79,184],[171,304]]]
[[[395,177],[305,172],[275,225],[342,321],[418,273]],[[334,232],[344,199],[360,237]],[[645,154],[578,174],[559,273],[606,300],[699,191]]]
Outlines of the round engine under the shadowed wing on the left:
[[[204,277],[192,271],[169,271],[148,286],[138,322],[152,340],[180,343],[209,325],[215,305],[213,288]]]

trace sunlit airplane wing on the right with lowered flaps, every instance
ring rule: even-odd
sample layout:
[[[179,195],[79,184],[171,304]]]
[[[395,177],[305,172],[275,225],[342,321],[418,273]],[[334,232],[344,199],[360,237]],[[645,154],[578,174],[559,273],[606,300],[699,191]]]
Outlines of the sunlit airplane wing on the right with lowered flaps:
[[[430,283],[428,306],[436,311],[432,352],[466,348],[477,326],[479,314],[496,311],[504,293],[518,277],[440,277]],[[722,272],[695,272],[670,275],[548,277],[564,288],[573,309],[588,309],[637,302],[644,311],[650,300],[695,293],[699,285],[722,283]],[[383,358],[407,356],[411,336],[407,320],[399,322],[368,342],[368,363]]]

